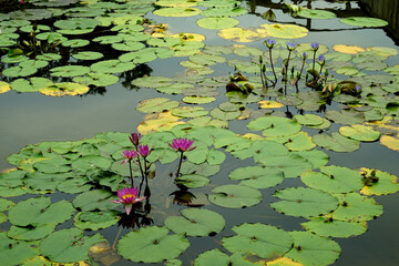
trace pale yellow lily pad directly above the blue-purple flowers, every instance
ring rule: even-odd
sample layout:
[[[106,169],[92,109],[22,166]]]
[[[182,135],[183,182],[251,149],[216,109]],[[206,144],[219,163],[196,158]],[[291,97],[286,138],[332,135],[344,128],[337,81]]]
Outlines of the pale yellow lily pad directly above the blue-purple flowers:
[[[305,27],[295,24],[262,24],[259,30],[266,37],[283,38],[283,39],[297,39],[308,34]]]

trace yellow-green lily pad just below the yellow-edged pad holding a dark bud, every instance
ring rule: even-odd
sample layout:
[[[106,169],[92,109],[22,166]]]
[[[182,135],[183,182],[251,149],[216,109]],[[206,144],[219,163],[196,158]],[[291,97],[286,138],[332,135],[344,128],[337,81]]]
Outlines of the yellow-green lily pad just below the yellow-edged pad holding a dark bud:
[[[334,219],[359,222],[370,221],[382,214],[382,205],[371,197],[358,193],[338,194],[339,207],[332,212]]]

